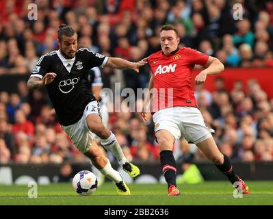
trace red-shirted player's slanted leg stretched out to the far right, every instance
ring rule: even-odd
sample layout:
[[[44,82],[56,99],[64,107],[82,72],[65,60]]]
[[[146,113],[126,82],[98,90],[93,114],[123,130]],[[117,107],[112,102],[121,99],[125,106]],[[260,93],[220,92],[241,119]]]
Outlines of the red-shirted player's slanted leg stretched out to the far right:
[[[207,138],[206,140],[203,140],[202,142],[199,142],[196,144],[198,148],[204,153],[204,155],[213,162],[213,164],[229,179],[229,181],[234,185],[235,182],[240,182],[244,194],[249,194],[249,188],[240,179],[231,165],[230,159],[228,156],[220,153],[218,146],[216,145],[216,142],[213,140],[212,137]]]

